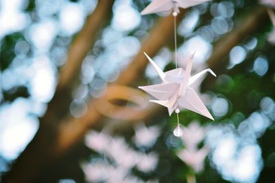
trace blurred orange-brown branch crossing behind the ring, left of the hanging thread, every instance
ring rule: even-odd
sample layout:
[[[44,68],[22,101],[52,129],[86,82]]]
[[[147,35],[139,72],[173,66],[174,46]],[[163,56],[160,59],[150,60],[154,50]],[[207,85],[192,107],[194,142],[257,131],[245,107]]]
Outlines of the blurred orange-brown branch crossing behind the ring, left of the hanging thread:
[[[181,10],[181,13],[178,14],[178,22],[184,16],[184,13],[185,10]],[[170,15],[169,17],[160,19],[149,34],[150,36],[143,41],[140,52],[133,58],[131,64],[124,69],[124,72],[120,74],[118,80],[116,80],[113,85],[130,85],[142,76],[140,73],[144,72],[148,63],[143,52],[146,52],[150,56],[154,56],[168,40],[173,38],[173,16]],[[58,151],[58,153],[63,153],[66,149],[72,147],[73,144],[83,138],[85,132],[91,125],[94,125],[95,122],[99,122],[102,117],[104,117],[98,112],[96,107],[100,105],[100,100],[107,99],[102,96],[101,98],[93,100],[93,102],[88,105],[87,111],[89,112],[87,114],[81,118],[72,118],[63,123],[58,136],[58,145],[56,146],[56,151]]]

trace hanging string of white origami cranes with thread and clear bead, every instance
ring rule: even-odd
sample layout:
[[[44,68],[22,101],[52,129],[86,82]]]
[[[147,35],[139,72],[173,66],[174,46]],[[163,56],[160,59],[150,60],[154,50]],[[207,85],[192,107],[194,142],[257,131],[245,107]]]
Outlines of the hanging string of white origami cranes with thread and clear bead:
[[[180,109],[189,109],[190,111],[194,111],[197,114],[201,114],[202,116],[206,116],[207,118],[214,120],[206,106],[192,88],[192,84],[207,72],[210,72],[213,76],[216,76],[216,74],[214,74],[211,69],[205,69],[194,76],[190,75],[195,52],[192,56],[190,56],[185,70],[182,68],[177,68],[176,17],[177,14],[179,14],[179,8],[189,8],[205,1],[210,0],[154,0],[141,12],[143,15],[156,12],[169,12],[173,10],[176,68],[168,72],[163,72],[162,69],[160,69],[157,64],[144,52],[145,56],[148,58],[148,61],[150,61],[151,65],[155,68],[159,78],[161,78],[162,84],[143,86],[139,88],[157,98],[157,100],[150,100],[150,102],[167,107],[169,116],[173,114],[173,111],[176,112],[177,127],[174,129],[173,133],[177,137],[182,136],[183,133],[179,125]]]

